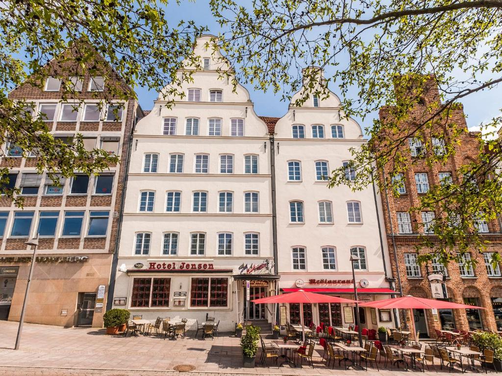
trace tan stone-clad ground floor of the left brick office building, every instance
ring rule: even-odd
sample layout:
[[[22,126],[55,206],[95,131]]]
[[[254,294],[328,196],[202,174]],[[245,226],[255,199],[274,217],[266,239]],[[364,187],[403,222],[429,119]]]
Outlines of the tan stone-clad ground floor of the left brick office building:
[[[102,327],[111,254],[37,254],[26,322]],[[0,256],[0,320],[17,321],[32,256]]]

